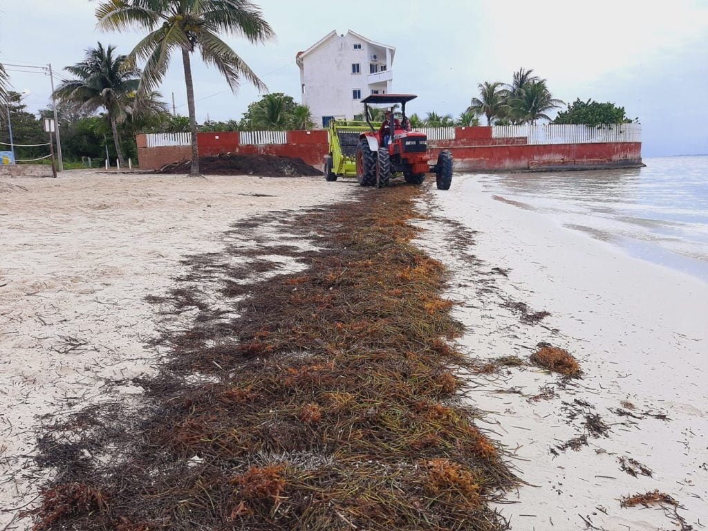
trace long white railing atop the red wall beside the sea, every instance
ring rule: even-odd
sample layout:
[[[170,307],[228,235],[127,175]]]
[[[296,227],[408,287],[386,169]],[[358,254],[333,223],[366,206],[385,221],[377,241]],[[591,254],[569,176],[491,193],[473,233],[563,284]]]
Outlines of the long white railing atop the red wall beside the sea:
[[[623,123],[588,125],[494,125],[492,138],[526,137],[528,144],[592,144],[600,142],[641,142],[641,125]]]

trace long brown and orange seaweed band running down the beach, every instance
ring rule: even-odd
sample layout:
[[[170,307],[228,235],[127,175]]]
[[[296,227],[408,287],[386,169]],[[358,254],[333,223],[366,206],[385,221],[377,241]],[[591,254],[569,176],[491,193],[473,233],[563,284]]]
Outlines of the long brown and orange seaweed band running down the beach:
[[[411,245],[420,193],[359,190],[234,225],[256,239],[280,227],[277,252],[309,266],[300,273],[246,282],[234,256],[258,249],[236,244],[185,261],[178,286],[151,300],[195,319],[159,339],[159,376],[136,381],[149,404],[47,428],[39,462],[57,474],[36,529],[506,529],[489,502],[515,478],[457,401],[466,362],[440,297],[445,268]],[[294,237],[319,251],[282,245]]]

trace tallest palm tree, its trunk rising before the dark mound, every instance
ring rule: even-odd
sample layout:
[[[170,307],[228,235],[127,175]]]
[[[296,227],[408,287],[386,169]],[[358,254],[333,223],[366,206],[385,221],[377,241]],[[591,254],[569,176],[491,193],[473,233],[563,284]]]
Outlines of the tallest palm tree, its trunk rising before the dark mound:
[[[232,91],[239,88],[241,76],[259,90],[265,84],[241,59],[219,33],[245,37],[249,42],[267,42],[275,33],[249,0],[102,0],[96,8],[98,27],[105,30],[139,28],[149,33],[135,46],[127,59],[128,67],[137,60],[146,61],[140,90],[155,89],[169,66],[171,52],[180,50],[187,88],[190,129],[192,132],[192,167],[190,175],[199,175],[197,118],[194,107],[194,84],[190,54],[199,50],[207,64],[216,67]]]

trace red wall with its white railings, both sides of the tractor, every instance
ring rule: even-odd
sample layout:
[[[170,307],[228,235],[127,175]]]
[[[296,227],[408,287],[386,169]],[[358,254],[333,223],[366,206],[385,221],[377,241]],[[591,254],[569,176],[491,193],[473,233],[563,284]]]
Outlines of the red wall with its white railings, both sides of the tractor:
[[[449,149],[457,171],[555,171],[641,166],[641,125],[501,125],[421,128],[435,159]],[[200,156],[271,154],[319,167],[329,153],[326,130],[200,132]],[[190,159],[189,133],[137,135],[142,169]]]

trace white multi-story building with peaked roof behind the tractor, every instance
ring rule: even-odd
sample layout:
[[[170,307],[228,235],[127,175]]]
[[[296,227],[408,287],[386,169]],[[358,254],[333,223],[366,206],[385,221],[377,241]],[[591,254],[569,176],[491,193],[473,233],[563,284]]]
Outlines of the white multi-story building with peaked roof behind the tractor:
[[[391,92],[396,48],[369,40],[352,30],[327,34],[295,61],[300,67],[302,104],[318,127],[332,118],[352,120],[364,111],[362,98]]]

